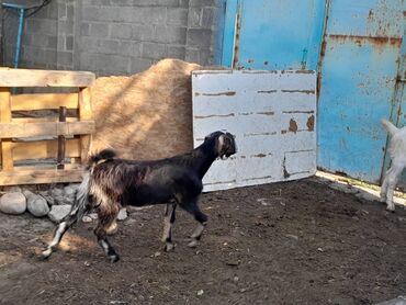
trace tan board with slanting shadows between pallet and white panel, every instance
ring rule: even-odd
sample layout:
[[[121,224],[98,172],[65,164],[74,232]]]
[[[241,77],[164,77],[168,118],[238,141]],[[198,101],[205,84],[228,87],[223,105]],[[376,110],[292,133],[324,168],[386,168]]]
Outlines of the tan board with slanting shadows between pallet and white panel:
[[[191,72],[199,69],[206,67],[163,59],[131,77],[98,78],[91,151],[110,147],[123,158],[155,159],[190,150]]]

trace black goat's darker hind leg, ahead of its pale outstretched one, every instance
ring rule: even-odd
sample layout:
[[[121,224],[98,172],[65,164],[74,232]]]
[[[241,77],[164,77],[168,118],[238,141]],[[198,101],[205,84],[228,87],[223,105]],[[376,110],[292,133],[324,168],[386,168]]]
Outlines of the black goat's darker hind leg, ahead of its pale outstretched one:
[[[98,238],[98,242],[102,247],[104,253],[109,257],[111,262],[116,262],[120,260],[120,256],[108,240],[108,229],[115,222],[115,218],[119,215],[119,204],[99,206],[99,223],[94,229],[94,235]]]

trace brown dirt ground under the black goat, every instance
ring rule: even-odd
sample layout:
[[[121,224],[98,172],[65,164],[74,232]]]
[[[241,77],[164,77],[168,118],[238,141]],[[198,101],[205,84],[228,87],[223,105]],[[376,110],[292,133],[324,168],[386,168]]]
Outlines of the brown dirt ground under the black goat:
[[[317,178],[203,194],[200,246],[178,212],[161,251],[163,206],[135,211],[111,241],[76,226],[40,261],[54,225],[0,215],[0,304],[374,304],[406,294],[406,211],[385,212]]]

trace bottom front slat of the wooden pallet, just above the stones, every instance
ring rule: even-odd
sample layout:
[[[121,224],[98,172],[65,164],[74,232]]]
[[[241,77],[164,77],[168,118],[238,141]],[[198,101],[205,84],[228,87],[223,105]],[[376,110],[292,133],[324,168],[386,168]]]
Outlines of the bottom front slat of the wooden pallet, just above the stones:
[[[80,182],[84,171],[80,169],[32,169],[0,171],[0,185]]]

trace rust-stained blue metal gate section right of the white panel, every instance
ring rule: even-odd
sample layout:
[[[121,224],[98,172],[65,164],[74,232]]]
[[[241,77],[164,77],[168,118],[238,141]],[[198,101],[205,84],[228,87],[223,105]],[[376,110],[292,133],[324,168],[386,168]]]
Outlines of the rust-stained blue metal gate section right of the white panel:
[[[332,0],[322,55],[318,165],[380,182],[404,31],[402,0]]]

